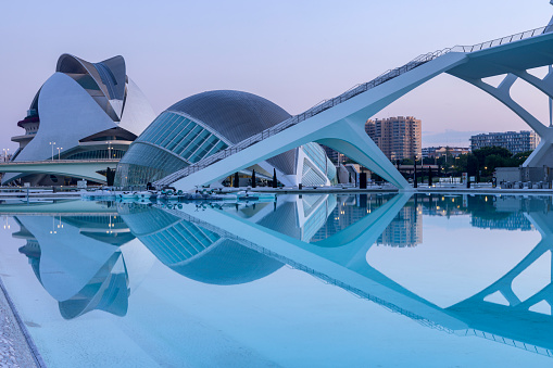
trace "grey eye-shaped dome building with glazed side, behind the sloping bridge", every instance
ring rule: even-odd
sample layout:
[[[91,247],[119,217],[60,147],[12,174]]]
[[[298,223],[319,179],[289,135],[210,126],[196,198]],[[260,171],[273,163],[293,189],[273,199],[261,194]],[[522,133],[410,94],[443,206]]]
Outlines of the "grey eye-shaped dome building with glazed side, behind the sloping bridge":
[[[164,111],[130,145],[117,166],[116,186],[146,185],[199,162],[290,117],[275,103],[232,90],[186,98]],[[285,185],[327,185],[335,166],[316,143],[284,152],[251,169]]]

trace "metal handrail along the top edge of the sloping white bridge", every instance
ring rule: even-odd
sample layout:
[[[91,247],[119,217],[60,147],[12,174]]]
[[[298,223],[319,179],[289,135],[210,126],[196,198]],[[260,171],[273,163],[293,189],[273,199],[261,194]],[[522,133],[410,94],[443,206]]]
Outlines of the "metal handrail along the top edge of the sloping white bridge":
[[[256,134],[256,135],[253,135],[250,138],[247,138],[243,141],[241,141],[232,147],[229,147],[223,151],[219,151],[219,152],[212,154],[203,160],[200,160],[196,164],[187,166],[178,172],[175,172],[175,173],[155,181],[153,185],[156,188],[163,188],[165,186],[168,186],[184,177],[189,176],[190,174],[197,173],[197,172],[216,163],[217,161],[226,158],[235,153],[238,153],[252,144],[255,144],[264,139],[267,139],[267,138],[269,138],[269,137],[272,137],[272,136],[274,136],[274,135],[291,127],[291,126],[297,125],[298,123],[301,123],[301,122],[310,118],[310,117],[321,114],[325,110],[328,110],[328,109],[334,107],[344,101],[348,101],[360,93],[366,92],[367,90],[369,90],[372,88],[375,88],[390,79],[393,79],[404,73],[407,73],[407,72],[410,72],[410,71],[412,71],[412,69],[414,69],[429,61],[432,61],[441,55],[444,55],[449,52],[465,52],[465,53],[476,52],[476,51],[489,49],[492,47],[497,47],[497,46],[501,46],[501,45],[505,45],[505,43],[510,43],[510,42],[514,42],[514,41],[519,41],[521,39],[543,35],[543,34],[546,34],[552,30],[553,30],[553,25],[544,26],[544,27],[523,31],[519,34],[515,34],[512,36],[498,38],[492,41],[477,43],[474,46],[455,46],[453,48],[448,48],[448,49],[442,49],[442,50],[438,50],[435,52],[429,52],[426,54],[420,54],[403,66],[397,67],[394,69],[389,69],[389,71],[380,74],[375,79],[367,81],[365,84],[353,86],[352,88],[348,89],[345,92],[341,93],[340,96],[338,96],[334,99],[323,100],[319,103],[317,103],[316,105],[314,105],[313,107],[309,109],[307,111],[305,111],[301,114],[294,115],[294,116],[277,124],[268,129],[265,129],[265,130]]]

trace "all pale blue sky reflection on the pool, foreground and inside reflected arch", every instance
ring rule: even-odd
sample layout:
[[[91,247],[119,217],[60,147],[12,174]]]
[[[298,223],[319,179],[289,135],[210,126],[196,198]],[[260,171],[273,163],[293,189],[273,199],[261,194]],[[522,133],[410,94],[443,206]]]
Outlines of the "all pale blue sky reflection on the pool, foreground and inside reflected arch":
[[[420,224],[420,244],[375,245],[366,258],[439,306],[488,287],[541,239],[538,231],[475,228],[468,215],[425,215]],[[551,365],[550,358],[523,350],[430,329],[289,267],[222,287],[187,279],[156,262],[129,296],[126,317],[93,310],[64,321],[17,253],[22,241],[3,231],[0,242],[1,274],[9,275],[2,279],[24,320],[40,326],[29,330],[52,366]],[[543,276],[545,269],[542,265],[532,275]]]

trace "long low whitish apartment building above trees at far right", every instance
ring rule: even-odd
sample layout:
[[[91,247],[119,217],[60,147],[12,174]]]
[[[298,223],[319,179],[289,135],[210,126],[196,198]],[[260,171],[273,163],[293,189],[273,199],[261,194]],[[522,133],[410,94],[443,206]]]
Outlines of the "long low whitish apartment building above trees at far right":
[[[502,147],[511,153],[532,151],[538,147],[539,136],[529,130],[489,132],[470,137],[472,150],[479,150],[485,147]]]

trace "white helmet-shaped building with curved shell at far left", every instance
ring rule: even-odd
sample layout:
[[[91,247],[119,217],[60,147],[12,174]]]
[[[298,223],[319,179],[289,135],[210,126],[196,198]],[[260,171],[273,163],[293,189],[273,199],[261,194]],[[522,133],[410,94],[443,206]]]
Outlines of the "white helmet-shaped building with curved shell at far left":
[[[155,114],[126,75],[123,56],[90,63],[70,54],[36,93],[27,116],[17,123],[25,134],[13,162],[121,158]],[[7,174],[2,183],[23,178],[32,185],[63,185],[43,173]],[[71,178],[65,178],[71,179]]]

